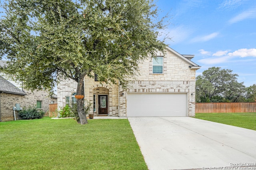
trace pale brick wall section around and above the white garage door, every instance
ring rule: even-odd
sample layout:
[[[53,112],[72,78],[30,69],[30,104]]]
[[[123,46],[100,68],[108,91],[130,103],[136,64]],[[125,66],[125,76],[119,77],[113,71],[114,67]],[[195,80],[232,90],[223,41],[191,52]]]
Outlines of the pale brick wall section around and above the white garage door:
[[[164,55],[158,52],[156,56]],[[196,70],[190,69],[188,63],[170,51],[166,51],[163,65],[163,74],[153,74],[152,59],[139,64],[140,74],[135,80],[130,80],[129,89],[120,97],[120,116],[126,116],[127,92],[187,93],[188,116],[195,116]]]

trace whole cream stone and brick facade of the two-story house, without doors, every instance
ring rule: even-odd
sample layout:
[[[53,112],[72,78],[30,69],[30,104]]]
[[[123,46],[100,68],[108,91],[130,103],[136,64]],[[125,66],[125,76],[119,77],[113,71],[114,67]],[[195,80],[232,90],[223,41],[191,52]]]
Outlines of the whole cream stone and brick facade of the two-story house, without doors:
[[[186,93],[188,116],[194,116],[196,70],[200,66],[169,47],[165,54],[158,52],[156,56],[164,57],[163,73],[153,74],[152,59],[146,59],[139,64],[138,75],[130,80],[127,90],[117,85],[97,82],[94,78],[86,76],[84,78],[85,100],[92,104],[90,113],[99,115],[98,96],[100,95],[108,97],[107,115],[126,117],[128,93]],[[64,106],[65,96],[76,92],[76,85],[73,80],[64,80],[58,85],[58,106]]]

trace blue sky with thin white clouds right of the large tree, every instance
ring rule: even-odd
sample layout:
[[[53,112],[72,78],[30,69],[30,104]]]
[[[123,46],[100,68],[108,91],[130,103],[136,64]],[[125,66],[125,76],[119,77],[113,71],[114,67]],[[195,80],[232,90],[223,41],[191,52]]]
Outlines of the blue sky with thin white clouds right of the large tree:
[[[155,0],[168,14],[166,43],[195,55],[197,76],[212,66],[233,70],[238,82],[256,84],[256,0]],[[160,37],[161,39],[161,37]]]

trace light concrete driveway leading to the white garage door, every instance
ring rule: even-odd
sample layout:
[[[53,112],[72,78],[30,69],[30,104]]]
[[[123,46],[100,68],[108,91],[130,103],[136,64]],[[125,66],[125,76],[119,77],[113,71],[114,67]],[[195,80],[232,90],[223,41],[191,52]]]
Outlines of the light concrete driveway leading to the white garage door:
[[[149,170],[256,167],[256,131],[192,117],[128,117]]]

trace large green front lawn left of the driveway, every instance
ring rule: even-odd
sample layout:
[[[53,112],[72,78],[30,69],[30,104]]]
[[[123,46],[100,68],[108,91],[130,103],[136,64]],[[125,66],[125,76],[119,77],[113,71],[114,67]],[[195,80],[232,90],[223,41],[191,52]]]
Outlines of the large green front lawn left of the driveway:
[[[1,170],[146,170],[127,119],[0,122]]]

